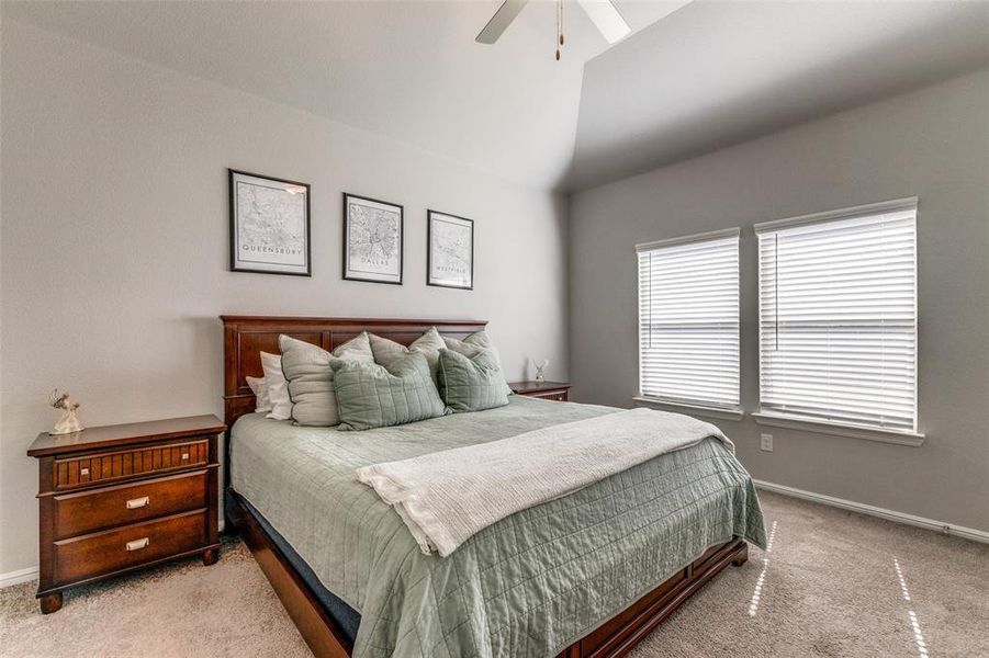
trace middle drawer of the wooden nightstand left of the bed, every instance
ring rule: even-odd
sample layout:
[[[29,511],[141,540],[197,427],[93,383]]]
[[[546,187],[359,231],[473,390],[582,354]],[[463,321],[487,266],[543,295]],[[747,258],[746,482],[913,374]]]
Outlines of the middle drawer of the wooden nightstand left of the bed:
[[[194,470],[55,496],[55,538],[209,506],[209,472]]]

